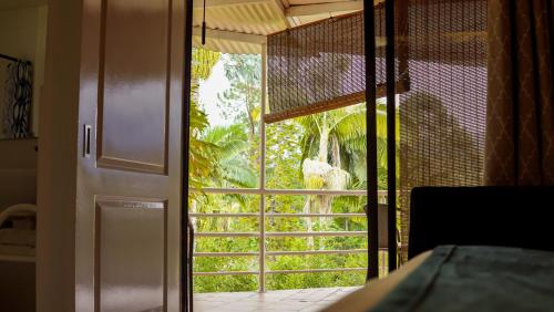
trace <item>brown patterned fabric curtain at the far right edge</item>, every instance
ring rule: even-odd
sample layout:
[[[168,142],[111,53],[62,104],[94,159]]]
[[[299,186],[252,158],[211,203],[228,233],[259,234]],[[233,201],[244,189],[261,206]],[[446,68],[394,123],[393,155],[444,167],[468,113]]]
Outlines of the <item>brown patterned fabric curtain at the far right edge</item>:
[[[553,9],[489,1],[488,185],[554,185]]]

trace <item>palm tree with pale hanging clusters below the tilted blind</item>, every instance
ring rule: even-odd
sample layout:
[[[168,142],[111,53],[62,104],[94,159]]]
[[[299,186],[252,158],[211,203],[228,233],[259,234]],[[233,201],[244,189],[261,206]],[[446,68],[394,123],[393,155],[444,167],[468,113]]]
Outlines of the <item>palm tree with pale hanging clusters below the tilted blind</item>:
[[[386,103],[377,103],[378,171],[380,188],[387,175],[387,113]],[[398,118],[398,114],[397,114]],[[308,189],[363,189],[366,176],[366,105],[359,104],[346,108],[298,118],[304,128],[301,139],[301,174]],[[384,186],[386,187],[386,186]],[[334,196],[309,196],[304,211],[329,214]],[[360,198],[343,197],[353,209],[359,210]],[[320,218],[326,226],[328,218]],[[311,219],[307,219],[311,230]]]

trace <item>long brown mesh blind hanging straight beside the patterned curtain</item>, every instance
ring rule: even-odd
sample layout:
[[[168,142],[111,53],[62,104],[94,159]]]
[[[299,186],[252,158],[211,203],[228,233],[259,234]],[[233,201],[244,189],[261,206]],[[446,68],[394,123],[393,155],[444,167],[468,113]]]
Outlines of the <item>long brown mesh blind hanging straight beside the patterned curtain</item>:
[[[483,183],[486,0],[401,2],[407,18],[397,14],[397,29],[408,35],[397,35],[397,56],[408,54],[408,73],[401,74],[410,77],[410,90],[399,95],[401,258],[406,260],[409,191],[417,186]]]

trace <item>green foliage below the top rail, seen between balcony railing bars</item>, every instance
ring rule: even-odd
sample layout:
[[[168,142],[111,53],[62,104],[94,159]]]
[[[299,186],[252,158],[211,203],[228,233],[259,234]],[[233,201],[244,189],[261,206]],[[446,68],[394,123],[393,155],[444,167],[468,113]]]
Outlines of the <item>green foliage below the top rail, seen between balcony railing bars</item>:
[[[206,195],[198,200],[196,211],[222,212],[257,212],[259,196],[247,196],[246,202],[239,204],[234,198],[225,195]],[[301,212],[305,196],[268,196],[266,199],[267,212]],[[332,210],[343,212],[349,210],[339,200],[335,200]],[[360,210],[352,211],[360,212]],[[306,231],[306,218],[267,218],[266,230],[277,231]],[[258,231],[257,217],[248,218],[198,218],[197,231],[203,232],[256,232]],[[365,230],[365,219],[359,221],[352,218],[337,218],[330,230]],[[320,230],[315,223],[315,230]],[[196,239],[197,252],[257,252],[259,240],[257,238],[199,238]],[[365,249],[367,239],[363,237],[327,237],[315,240],[315,250],[345,250]],[[266,239],[267,251],[304,251],[310,247],[306,238],[284,237]],[[271,256],[266,257],[267,270],[302,270],[302,269],[337,269],[337,268],[365,268],[367,256],[352,254],[318,254],[318,256]],[[258,271],[258,258],[247,257],[197,257],[195,271]],[[365,272],[328,272],[328,273],[293,273],[268,274],[266,288],[268,290],[319,288],[339,285],[360,285],[365,282]],[[196,292],[229,292],[256,291],[258,288],[257,275],[217,275],[195,277]]]

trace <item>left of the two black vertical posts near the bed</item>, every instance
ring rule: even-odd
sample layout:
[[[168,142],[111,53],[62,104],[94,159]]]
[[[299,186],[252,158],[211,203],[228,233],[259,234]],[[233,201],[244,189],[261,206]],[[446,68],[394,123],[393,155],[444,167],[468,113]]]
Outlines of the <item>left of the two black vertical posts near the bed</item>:
[[[368,274],[379,277],[379,231],[377,201],[377,122],[376,122],[376,29],[373,0],[363,0],[363,44],[366,52],[366,148],[368,177]]]

